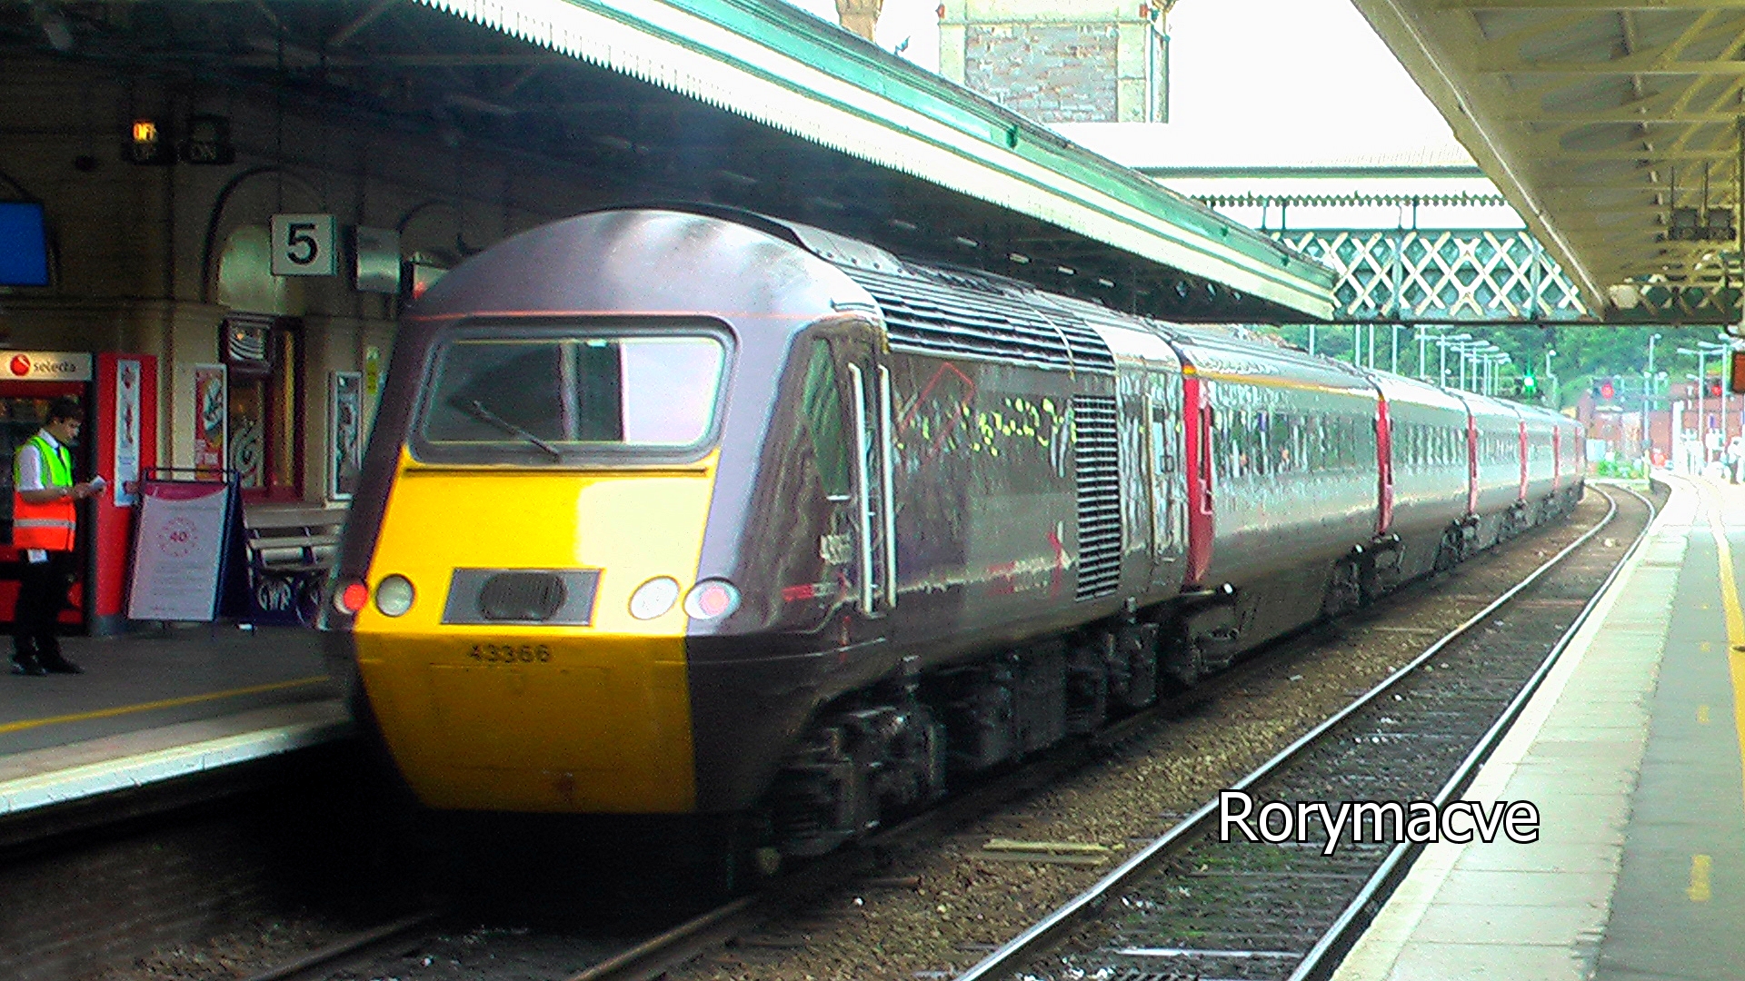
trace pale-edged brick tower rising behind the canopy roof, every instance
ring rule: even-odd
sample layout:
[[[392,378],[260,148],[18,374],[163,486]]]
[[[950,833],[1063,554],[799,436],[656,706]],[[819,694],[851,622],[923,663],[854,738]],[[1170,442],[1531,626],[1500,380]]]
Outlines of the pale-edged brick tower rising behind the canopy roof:
[[[1038,122],[1167,122],[1173,0],[946,0],[939,73]]]

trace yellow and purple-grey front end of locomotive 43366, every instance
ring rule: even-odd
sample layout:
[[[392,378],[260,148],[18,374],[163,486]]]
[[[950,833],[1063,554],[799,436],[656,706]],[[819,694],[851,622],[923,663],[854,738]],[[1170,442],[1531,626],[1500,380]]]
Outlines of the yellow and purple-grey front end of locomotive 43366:
[[[747,676],[717,644],[714,663],[738,679],[717,683],[691,655],[735,613],[731,632],[822,627],[825,604],[740,609],[728,574],[759,566],[736,555],[738,525],[796,333],[841,337],[872,318],[866,293],[804,250],[675,211],[536,229],[419,302],[323,627],[422,803],[749,806],[811,710],[817,656],[787,660],[775,670],[787,679]],[[710,543],[712,508],[733,532]],[[824,574],[808,522],[757,538]],[[792,696],[759,702],[757,686]]]

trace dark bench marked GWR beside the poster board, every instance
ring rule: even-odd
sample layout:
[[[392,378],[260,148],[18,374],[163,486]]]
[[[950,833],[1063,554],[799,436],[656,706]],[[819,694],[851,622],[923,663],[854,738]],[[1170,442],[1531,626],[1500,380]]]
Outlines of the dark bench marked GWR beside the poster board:
[[[344,508],[253,504],[243,510],[255,620],[312,627]]]

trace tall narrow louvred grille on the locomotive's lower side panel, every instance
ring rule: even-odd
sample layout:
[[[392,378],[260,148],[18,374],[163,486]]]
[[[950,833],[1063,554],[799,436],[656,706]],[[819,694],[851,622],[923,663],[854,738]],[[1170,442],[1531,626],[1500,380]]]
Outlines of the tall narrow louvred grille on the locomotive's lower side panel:
[[[1120,585],[1120,445],[1112,396],[1073,396],[1073,473],[1078,482],[1073,599],[1096,599]]]

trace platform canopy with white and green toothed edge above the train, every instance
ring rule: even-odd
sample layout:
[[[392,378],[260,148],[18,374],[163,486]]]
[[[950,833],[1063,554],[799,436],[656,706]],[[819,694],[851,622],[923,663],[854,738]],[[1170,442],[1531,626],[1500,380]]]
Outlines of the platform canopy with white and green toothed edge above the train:
[[[1324,319],[1331,272],[778,0],[0,0],[7,47],[316,101],[1174,319]],[[475,150],[469,150],[475,152]]]

